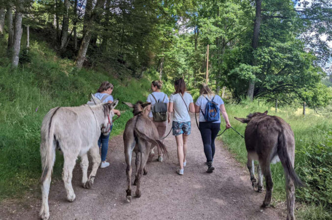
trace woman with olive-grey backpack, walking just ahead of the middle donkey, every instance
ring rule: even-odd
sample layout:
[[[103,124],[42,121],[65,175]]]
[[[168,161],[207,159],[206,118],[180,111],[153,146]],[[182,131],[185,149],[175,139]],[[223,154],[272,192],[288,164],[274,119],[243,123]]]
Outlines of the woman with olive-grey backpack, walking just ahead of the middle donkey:
[[[151,107],[156,104],[156,102],[161,101],[167,103],[167,109],[168,109],[168,97],[165,93],[161,92],[160,90],[163,87],[163,82],[161,80],[154,80],[151,83],[151,90],[153,91],[149,96],[147,97],[146,101],[151,102],[151,105],[149,105],[146,109],[146,114],[153,121],[153,115],[151,111]],[[167,121],[166,122],[155,122],[153,123],[156,125],[159,138],[163,138],[166,135],[166,129],[167,124],[170,122],[170,113],[167,112]],[[164,139],[162,140],[164,144]],[[157,147],[158,149],[158,161],[163,162],[163,152]],[[151,151],[153,153],[153,150]]]

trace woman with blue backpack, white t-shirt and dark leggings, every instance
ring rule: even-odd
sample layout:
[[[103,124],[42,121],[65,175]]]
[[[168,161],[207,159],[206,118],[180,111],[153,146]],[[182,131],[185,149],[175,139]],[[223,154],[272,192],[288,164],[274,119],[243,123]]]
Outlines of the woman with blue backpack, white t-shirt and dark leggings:
[[[207,172],[211,173],[215,170],[212,166],[212,161],[216,150],[215,139],[220,131],[220,111],[226,122],[226,128],[230,128],[231,125],[225,105],[220,96],[215,95],[205,83],[202,84],[199,94],[200,97],[197,98],[195,103],[195,112],[199,112],[199,131],[204,145],[204,153],[208,166]],[[212,103],[210,104],[209,102]],[[209,108],[209,112],[206,112],[207,107]],[[211,113],[212,117],[210,117]]]

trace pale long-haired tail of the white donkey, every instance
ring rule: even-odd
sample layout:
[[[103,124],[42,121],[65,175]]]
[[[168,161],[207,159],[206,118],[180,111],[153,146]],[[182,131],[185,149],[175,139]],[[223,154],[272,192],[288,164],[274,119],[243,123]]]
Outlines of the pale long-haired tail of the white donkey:
[[[47,120],[46,123],[48,123],[46,126],[46,129],[43,129],[42,125],[42,135],[44,137],[41,137],[41,139],[44,139],[40,143],[40,157],[42,162],[42,175],[39,179],[39,183],[43,183],[46,179],[51,178],[52,171],[53,171],[53,165],[55,162],[55,136],[54,136],[54,123],[52,123],[53,117],[56,113],[56,111],[59,109],[55,109],[53,112],[50,120]],[[44,121],[43,121],[44,123]]]

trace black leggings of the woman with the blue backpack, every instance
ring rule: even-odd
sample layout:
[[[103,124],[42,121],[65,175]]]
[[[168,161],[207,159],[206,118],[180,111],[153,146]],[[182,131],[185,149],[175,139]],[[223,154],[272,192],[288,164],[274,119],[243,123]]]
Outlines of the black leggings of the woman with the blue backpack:
[[[202,136],[206,161],[212,161],[215,155],[215,139],[220,131],[220,123],[199,122],[199,131]]]

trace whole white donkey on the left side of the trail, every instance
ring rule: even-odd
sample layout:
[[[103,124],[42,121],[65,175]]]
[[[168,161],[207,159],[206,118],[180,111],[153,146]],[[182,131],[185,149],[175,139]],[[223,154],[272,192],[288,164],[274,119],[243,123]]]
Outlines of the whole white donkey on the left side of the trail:
[[[60,149],[63,153],[62,179],[68,201],[72,202],[75,199],[71,181],[78,156],[81,157],[83,187],[89,189],[93,184],[101,162],[97,145],[98,138],[101,133],[107,135],[110,132],[112,117],[114,116],[112,109],[115,108],[118,100],[111,104],[102,104],[93,95],[92,99],[94,106],[56,107],[51,109],[43,119],[40,142],[42,175],[39,180],[42,184],[42,206],[39,217],[43,220],[47,220],[50,217],[48,196],[55,162],[55,148]],[[89,178],[87,178],[88,151],[93,161]]]

